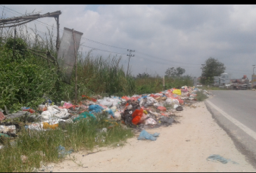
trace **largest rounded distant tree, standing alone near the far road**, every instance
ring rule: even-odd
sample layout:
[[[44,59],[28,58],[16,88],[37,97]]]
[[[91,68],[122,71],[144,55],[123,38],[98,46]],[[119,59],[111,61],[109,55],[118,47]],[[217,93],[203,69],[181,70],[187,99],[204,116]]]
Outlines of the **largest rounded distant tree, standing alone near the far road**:
[[[214,82],[214,76],[220,76],[221,73],[225,72],[226,66],[224,66],[224,63],[221,63],[214,57],[209,57],[207,60],[205,60],[201,70],[201,83],[211,84]]]

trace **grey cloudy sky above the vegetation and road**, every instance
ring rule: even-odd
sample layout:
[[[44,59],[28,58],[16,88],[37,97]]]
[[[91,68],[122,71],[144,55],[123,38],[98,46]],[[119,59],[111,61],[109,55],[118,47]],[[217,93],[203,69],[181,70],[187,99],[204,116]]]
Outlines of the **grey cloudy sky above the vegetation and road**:
[[[201,64],[214,57],[232,78],[251,79],[256,65],[256,5],[4,5],[6,17],[41,11],[61,11],[64,27],[83,32],[83,47],[93,56],[122,56],[133,75],[163,76],[169,67],[183,67],[186,75],[201,76]],[[2,14],[3,6],[0,6]],[[53,18],[39,21],[56,26]],[[46,24],[31,22],[45,32]],[[55,36],[56,30],[54,30]],[[93,42],[95,41],[95,42]],[[103,44],[105,45],[103,45]],[[109,46],[111,45],[111,46]],[[87,47],[86,47],[87,46]],[[90,47],[90,48],[89,48]],[[112,52],[112,53],[109,53]],[[256,73],[256,69],[255,69]]]

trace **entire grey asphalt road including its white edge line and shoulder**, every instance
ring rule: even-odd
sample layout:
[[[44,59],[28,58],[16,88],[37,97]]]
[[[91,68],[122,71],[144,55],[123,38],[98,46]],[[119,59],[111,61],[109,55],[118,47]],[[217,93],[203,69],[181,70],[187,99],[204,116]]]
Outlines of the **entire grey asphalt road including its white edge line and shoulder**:
[[[236,148],[256,168],[256,91],[211,91],[204,101],[217,124],[233,139]]]

